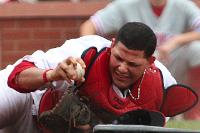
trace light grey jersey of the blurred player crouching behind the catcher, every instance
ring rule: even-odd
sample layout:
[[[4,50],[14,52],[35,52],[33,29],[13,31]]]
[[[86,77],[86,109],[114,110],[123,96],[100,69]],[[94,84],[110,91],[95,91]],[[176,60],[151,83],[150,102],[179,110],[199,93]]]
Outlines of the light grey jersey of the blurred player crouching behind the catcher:
[[[188,29],[200,32],[200,10],[190,0],[167,0],[157,17],[149,0],[117,0],[91,17],[99,34],[117,32],[127,22],[147,24],[158,37],[158,44]]]

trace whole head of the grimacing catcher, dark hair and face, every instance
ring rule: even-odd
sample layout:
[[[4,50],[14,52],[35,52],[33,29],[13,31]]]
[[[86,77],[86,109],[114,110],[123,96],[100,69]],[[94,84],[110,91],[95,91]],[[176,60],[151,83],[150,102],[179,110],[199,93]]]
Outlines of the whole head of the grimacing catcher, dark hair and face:
[[[156,36],[147,25],[129,22],[112,42],[110,70],[112,80],[121,89],[138,80],[152,63]]]

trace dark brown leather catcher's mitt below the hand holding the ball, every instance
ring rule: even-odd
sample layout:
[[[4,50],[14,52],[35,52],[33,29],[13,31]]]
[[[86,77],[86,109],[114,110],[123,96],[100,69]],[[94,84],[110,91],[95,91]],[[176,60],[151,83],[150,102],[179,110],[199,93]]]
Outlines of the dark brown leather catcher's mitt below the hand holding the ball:
[[[83,100],[67,89],[52,110],[39,115],[38,121],[53,133],[80,133],[76,127],[90,122],[90,110]]]

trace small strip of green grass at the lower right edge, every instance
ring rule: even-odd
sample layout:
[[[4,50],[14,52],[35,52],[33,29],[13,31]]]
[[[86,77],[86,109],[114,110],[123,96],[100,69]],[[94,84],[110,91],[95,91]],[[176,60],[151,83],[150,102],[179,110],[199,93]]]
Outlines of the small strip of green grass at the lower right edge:
[[[167,122],[166,127],[200,131],[200,121],[170,120]]]

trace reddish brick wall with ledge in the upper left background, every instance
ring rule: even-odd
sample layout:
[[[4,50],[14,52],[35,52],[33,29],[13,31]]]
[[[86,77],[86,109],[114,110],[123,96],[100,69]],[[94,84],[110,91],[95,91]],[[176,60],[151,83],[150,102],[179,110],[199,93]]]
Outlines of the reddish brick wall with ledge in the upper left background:
[[[0,6],[0,68],[33,51],[78,37],[80,24],[108,1],[8,3]]]

